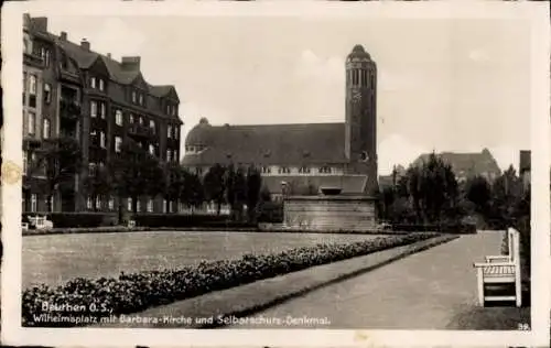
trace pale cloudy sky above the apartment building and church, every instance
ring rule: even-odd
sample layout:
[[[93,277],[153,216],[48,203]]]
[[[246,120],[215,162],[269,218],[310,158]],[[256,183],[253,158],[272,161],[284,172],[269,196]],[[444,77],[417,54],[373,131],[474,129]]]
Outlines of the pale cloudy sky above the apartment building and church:
[[[361,44],[378,67],[380,174],[433,150],[487,148],[501,168],[518,167],[530,148],[530,32],[519,20],[51,15],[48,30],[116,59],[141,56],[145,80],[175,85],[183,137],[203,117],[343,122],[345,58]]]

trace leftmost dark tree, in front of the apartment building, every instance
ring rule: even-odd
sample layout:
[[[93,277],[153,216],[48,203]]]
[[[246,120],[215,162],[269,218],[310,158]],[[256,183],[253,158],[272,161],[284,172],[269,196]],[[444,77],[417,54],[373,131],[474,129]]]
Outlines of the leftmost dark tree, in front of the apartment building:
[[[51,202],[56,193],[74,191],[75,176],[80,173],[83,154],[80,145],[73,138],[54,138],[44,140],[43,149],[37,159],[30,165],[32,174],[45,174],[45,192],[47,209],[52,210]]]

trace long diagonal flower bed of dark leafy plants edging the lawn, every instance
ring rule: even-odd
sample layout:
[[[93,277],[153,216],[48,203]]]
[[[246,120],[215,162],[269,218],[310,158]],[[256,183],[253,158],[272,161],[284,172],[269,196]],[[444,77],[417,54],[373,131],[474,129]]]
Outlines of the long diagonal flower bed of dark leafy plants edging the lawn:
[[[136,313],[212,291],[411,244],[436,236],[439,233],[419,232],[353,243],[320,243],[274,254],[246,254],[237,260],[201,262],[177,270],[121,273],[118,279],[75,279],[56,289],[35,286],[23,293],[22,324],[42,327],[90,325],[99,323],[101,317],[109,314]]]

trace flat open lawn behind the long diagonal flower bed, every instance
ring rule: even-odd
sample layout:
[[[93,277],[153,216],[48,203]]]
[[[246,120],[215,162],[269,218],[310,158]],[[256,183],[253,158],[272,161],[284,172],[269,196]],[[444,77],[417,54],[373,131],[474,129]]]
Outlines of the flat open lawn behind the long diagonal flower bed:
[[[353,242],[377,236],[258,232],[140,232],[29,236],[23,238],[23,289],[83,276],[118,276],[173,269],[201,260],[236,259],[321,242]]]

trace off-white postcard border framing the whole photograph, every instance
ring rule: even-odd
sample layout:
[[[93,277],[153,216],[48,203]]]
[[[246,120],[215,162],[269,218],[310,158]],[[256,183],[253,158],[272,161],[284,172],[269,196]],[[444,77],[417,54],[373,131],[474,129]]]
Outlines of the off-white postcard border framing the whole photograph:
[[[368,18],[511,18],[532,22],[532,330],[303,330],[303,329],[98,329],[21,327],[21,181],[3,183],[2,342],[43,346],[542,346],[549,344],[550,242],[550,31],[549,7],[507,2],[114,2],[25,1],[2,9],[2,81],[4,88],[3,168],[22,168],[22,13],[33,15],[305,15]],[[543,76],[543,72],[547,74]],[[528,117],[528,116],[527,116]],[[3,175],[4,178],[6,175]],[[13,204],[15,203],[15,204]],[[536,304],[536,305],[534,305]]]

